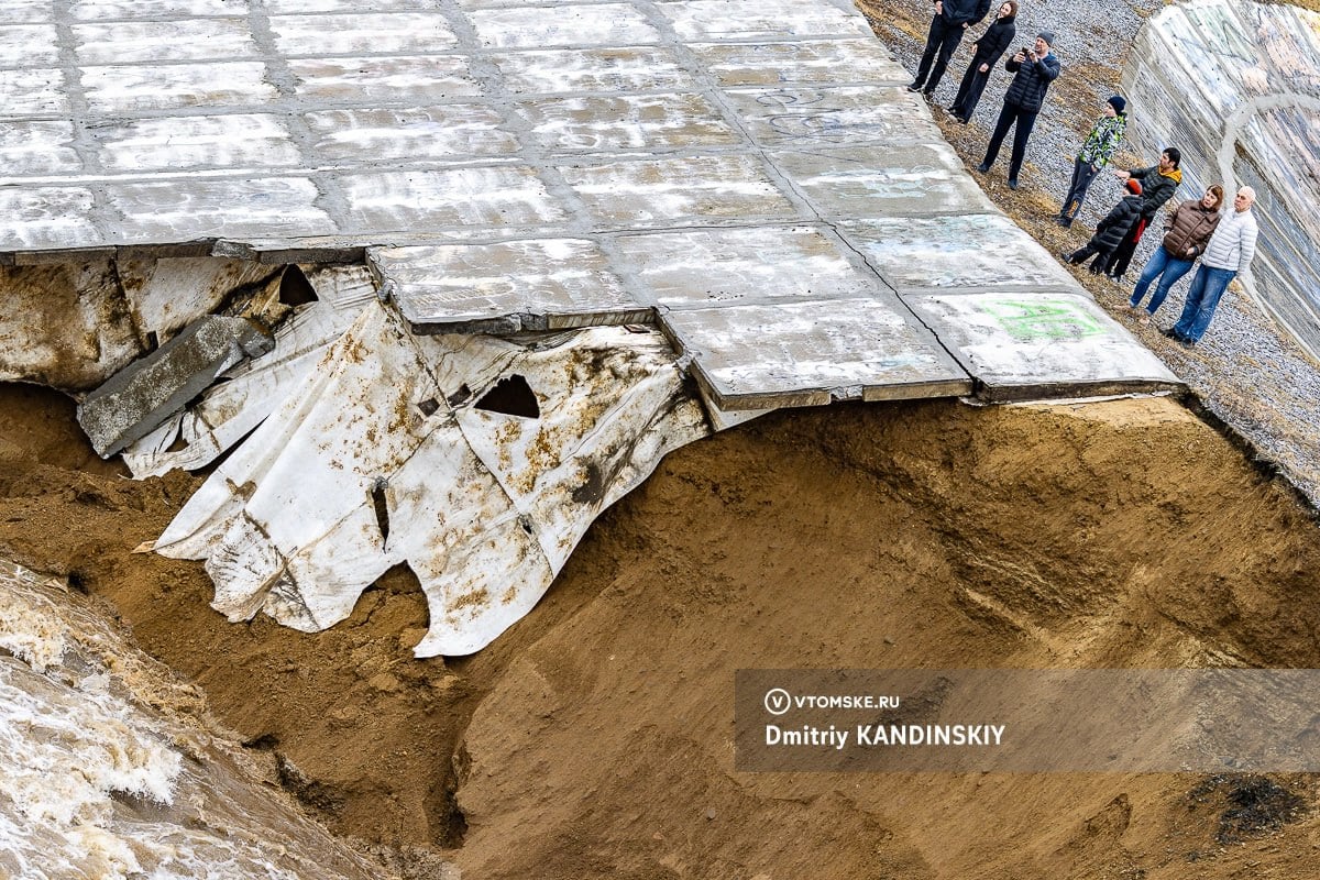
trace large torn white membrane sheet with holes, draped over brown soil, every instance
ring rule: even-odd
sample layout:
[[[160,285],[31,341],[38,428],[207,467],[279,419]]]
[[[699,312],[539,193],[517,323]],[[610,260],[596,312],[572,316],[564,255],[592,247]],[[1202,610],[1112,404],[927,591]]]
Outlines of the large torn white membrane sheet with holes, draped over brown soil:
[[[477,409],[511,375],[539,417]],[[466,654],[536,604],[602,509],[706,433],[657,332],[413,336],[370,303],[156,549],[205,558],[232,620],[302,631],[408,562],[430,610],[414,653]]]

